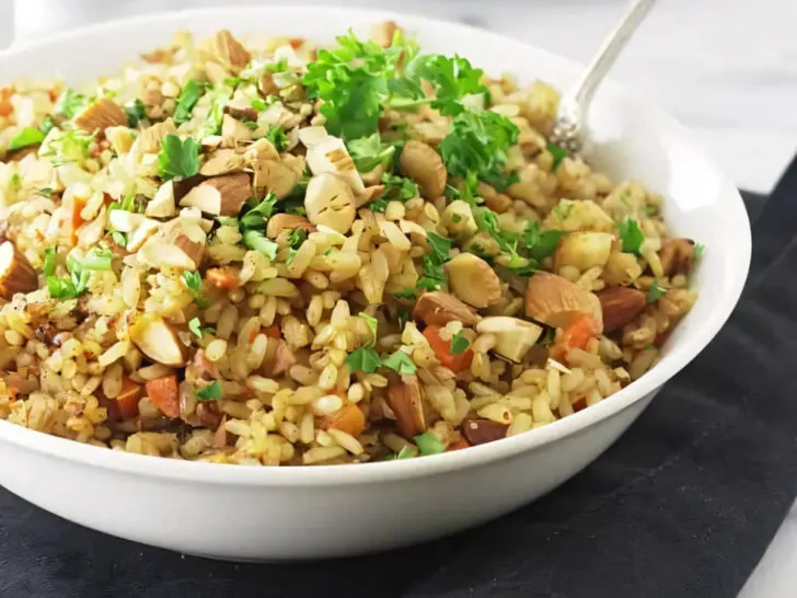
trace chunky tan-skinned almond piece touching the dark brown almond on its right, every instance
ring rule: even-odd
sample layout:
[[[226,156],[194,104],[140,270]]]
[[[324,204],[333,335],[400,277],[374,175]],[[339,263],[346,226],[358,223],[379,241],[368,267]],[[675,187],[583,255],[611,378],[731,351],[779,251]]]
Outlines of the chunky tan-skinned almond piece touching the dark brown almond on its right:
[[[538,271],[529,278],[527,317],[548,326],[566,327],[585,314],[594,318],[600,334],[603,331],[603,313],[594,294],[548,272]]]

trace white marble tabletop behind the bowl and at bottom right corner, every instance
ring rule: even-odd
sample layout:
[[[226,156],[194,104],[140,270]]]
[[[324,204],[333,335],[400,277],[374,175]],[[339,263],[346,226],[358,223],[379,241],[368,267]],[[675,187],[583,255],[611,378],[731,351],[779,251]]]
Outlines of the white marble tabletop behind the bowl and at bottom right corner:
[[[0,0],[2,19],[12,0]],[[293,0],[297,2],[298,0]],[[96,21],[219,0],[16,0],[20,42]],[[262,3],[238,0],[236,4]],[[288,3],[288,2],[285,2]],[[624,0],[312,0],[384,7],[477,24],[586,61]],[[744,188],[767,192],[797,151],[797,1],[662,0],[613,77],[692,128]],[[743,598],[795,591],[797,514],[784,522]]]

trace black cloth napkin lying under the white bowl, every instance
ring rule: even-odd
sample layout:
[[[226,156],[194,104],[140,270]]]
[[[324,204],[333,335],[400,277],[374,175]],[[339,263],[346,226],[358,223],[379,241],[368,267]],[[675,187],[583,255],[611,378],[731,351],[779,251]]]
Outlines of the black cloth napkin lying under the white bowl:
[[[797,160],[769,200],[746,199],[753,272],[729,324],[538,503],[391,553],[236,565],[90,531],[0,488],[0,596],[735,596],[797,495]]]

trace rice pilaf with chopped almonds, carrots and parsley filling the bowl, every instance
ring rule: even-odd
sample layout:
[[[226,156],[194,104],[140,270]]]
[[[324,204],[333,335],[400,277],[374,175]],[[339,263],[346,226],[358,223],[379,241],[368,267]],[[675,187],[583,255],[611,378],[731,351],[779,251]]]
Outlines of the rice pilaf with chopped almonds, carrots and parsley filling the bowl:
[[[643,376],[701,248],[547,141],[557,93],[421,54],[178,34],[0,95],[0,418],[240,464],[522,434]]]

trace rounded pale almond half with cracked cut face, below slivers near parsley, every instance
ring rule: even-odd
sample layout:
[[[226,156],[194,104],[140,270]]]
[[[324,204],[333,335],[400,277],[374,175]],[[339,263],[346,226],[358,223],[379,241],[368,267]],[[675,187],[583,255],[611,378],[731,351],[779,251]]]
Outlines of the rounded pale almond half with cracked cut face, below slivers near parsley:
[[[340,176],[324,173],[313,176],[304,194],[308,220],[346,233],[355,221],[355,196]]]

